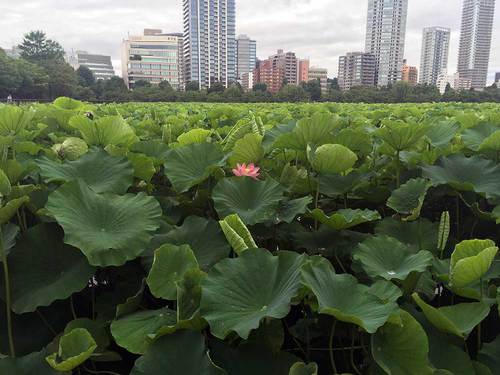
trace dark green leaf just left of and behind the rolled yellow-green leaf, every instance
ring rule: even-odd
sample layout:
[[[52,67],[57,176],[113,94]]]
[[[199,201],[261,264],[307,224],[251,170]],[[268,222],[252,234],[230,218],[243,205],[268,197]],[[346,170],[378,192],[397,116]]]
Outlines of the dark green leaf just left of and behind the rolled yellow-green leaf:
[[[203,270],[227,258],[231,251],[217,222],[199,216],[187,217],[163,237],[162,243],[189,245]]]

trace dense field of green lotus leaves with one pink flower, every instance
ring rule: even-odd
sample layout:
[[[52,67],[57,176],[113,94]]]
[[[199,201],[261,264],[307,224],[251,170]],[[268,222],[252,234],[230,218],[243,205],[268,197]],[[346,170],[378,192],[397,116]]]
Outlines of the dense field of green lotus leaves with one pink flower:
[[[0,106],[0,374],[495,375],[500,106]]]

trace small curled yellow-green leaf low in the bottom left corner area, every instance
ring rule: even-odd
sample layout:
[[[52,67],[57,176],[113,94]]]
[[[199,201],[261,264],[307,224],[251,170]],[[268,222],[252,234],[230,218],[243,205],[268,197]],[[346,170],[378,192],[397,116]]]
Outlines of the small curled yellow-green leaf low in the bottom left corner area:
[[[84,328],[76,328],[59,340],[59,351],[47,356],[49,365],[57,371],[71,371],[90,358],[97,344]]]

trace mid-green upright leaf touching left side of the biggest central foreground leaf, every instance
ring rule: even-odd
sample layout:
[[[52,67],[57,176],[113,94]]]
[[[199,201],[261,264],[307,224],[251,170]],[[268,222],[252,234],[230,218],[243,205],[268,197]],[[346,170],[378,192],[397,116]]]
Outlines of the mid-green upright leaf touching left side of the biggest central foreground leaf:
[[[198,268],[198,262],[188,245],[163,245],[155,251],[146,279],[151,293],[157,298],[177,299],[177,283],[192,268]]]

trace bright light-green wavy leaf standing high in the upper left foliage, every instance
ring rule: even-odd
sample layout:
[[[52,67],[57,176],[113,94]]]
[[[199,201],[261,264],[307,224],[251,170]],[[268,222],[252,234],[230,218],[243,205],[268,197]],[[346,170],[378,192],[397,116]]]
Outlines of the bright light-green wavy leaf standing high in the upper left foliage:
[[[73,116],[69,123],[89,145],[128,147],[138,141],[134,129],[121,116],[101,117],[92,121],[79,115]]]

